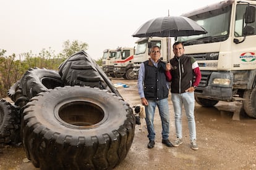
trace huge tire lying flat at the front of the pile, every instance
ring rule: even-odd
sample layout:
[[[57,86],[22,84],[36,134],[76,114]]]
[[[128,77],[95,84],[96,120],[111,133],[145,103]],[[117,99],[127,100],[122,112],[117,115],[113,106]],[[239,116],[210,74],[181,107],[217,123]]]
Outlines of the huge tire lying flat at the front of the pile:
[[[98,88],[56,87],[23,110],[23,146],[41,169],[112,169],[126,157],[134,129],[129,104]]]

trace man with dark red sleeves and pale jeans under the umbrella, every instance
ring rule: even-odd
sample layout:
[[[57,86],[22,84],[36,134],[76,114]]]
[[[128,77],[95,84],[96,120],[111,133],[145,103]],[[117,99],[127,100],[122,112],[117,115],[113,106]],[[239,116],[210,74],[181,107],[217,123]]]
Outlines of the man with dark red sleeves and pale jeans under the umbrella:
[[[194,57],[184,55],[184,44],[173,44],[174,58],[166,65],[166,78],[171,81],[171,100],[173,101],[175,127],[177,139],[174,147],[183,144],[182,141],[182,105],[185,108],[189,126],[190,146],[198,150],[197,134],[195,130],[195,97],[194,91],[202,78],[200,68]],[[194,78],[195,77],[195,78]]]

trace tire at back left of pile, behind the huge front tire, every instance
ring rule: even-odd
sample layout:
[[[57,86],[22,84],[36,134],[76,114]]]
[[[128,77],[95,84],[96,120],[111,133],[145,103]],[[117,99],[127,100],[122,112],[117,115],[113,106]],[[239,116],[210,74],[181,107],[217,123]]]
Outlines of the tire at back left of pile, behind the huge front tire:
[[[64,86],[58,71],[46,68],[30,68],[20,79],[19,88],[15,84],[14,87],[11,87],[9,93],[12,94],[13,89],[15,89],[15,94],[11,96],[15,105],[19,107],[26,105],[29,99],[40,92]]]

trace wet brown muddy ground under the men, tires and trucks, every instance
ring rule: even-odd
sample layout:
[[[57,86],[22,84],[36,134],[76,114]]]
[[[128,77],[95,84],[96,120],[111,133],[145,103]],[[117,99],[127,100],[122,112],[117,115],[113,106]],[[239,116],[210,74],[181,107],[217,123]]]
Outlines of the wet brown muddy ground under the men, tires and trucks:
[[[124,100],[130,106],[140,104],[136,80],[112,78],[113,83],[124,83],[129,87],[120,88]],[[233,118],[230,111],[236,110],[238,103],[219,102],[216,107],[195,106],[197,143],[199,149],[189,145],[186,117],[183,116],[183,140],[179,147],[169,148],[161,144],[161,121],[155,115],[155,147],[147,148],[145,121],[142,131],[135,127],[132,147],[124,161],[115,169],[256,169],[256,119],[240,115]],[[173,104],[169,97],[171,113],[170,140],[175,139]],[[225,111],[221,111],[225,110]],[[22,147],[7,145],[0,153],[0,169],[37,169],[30,163]]]

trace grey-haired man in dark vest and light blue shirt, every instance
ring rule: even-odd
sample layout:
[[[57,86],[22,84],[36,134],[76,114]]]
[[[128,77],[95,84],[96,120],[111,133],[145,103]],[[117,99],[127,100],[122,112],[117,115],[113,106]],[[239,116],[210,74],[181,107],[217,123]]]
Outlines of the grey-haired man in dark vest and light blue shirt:
[[[158,107],[162,123],[162,143],[173,147],[169,141],[169,86],[166,81],[166,63],[160,60],[160,47],[150,49],[150,59],[141,63],[138,76],[138,89],[142,105],[145,106],[146,123],[148,129],[148,148],[155,145],[154,116]]]

